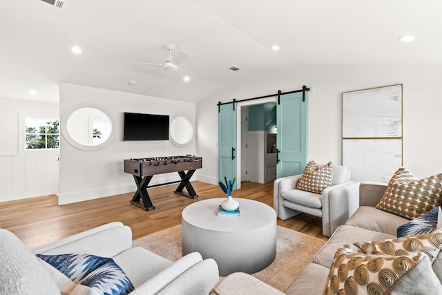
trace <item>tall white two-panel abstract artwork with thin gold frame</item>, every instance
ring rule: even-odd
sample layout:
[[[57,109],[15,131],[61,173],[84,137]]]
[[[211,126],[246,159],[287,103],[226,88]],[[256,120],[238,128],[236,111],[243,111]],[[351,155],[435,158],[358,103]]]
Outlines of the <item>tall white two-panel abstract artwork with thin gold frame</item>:
[[[342,94],[343,165],[354,181],[386,183],[402,166],[402,84]]]

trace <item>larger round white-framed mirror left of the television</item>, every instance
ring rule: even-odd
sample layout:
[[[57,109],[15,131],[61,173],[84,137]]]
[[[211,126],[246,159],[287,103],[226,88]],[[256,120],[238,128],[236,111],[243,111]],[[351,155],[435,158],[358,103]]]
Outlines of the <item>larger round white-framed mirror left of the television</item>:
[[[61,134],[77,149],[95,151],[110,144],[115,124],[99,106],[73,106],[61,118]]]

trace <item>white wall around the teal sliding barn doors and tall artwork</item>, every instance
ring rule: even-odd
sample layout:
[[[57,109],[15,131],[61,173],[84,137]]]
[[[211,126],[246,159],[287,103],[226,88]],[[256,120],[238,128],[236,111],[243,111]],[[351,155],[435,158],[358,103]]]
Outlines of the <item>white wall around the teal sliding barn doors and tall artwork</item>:
[[[441,173],[442,66],[296,66],[224,89],[197,103],[197,179],[218,183],[218,101],[302,88],[309,93],[308,159],[342,164],[341,93],[403,84],[403,165],[417,177]],[[376,166],[376,163],[373,163]]]

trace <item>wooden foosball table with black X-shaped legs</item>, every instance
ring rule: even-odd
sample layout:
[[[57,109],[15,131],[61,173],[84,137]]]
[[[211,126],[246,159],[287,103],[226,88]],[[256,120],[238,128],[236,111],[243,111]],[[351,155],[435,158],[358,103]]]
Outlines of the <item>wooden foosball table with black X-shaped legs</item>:
[[[180,182],[180,184],[178,184],[174,193],[178,193],[188,198],[198,198],[190,179],[193,173],[195,173],[195,170],[200,168],[202,168],[202,157],[195,157],[192,155],[124,160],[124,172],[132,174],[133,179],[137,184],[137,191],[135,192],[131,203],[146,211],[153,210],[155,207],[152,204],[147,189],[149,187],[158,187],[160,185],[176,182]],[[178,175],[180,175],[181,180],[151,186],[148,185],[149,182],[151,182],[153,175],[171,172],[177,172]],[[186,188],[187,193],[183,191],[184,187]],[[142,202],[140,202],[140,200],[142,200]]]

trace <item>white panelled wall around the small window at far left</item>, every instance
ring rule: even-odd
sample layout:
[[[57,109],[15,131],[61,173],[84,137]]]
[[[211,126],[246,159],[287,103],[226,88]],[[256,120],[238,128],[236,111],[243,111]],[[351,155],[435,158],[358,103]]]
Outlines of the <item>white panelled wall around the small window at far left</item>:
[[[19,146],[19,120],[41,114],[59,117],[58,104],[0,99],[0,202],[58,192],[59,150],[25,152]]]

